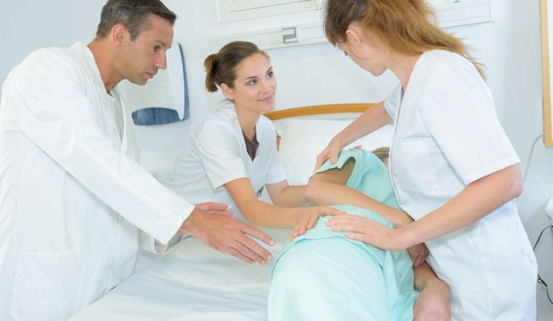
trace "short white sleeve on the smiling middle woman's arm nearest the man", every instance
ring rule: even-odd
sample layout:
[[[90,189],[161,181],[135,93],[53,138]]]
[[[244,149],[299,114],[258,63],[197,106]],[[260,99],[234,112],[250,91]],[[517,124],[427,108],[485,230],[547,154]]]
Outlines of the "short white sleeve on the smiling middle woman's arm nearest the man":
[[[226,124],[216,121],[205,124],[197,149],[213,190],[237,178],[248,177],[240,157],[241,142]]]

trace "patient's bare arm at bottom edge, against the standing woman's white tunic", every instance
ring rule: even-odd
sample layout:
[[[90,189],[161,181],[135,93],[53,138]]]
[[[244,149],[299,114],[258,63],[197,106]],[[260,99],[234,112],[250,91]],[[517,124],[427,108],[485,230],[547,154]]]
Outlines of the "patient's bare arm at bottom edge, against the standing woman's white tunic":
[[[426,262],[414,269],[415,290],[419,297],[414,307],[414,320],[451,320],[450,288]]]

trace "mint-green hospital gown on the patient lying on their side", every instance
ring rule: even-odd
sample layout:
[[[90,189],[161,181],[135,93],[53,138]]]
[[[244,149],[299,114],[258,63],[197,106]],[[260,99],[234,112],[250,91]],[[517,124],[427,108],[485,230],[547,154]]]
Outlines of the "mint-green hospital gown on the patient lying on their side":
[[[347,182],[379,202],[399,208],[388,168],[366,150],[342,151],[335,165],[356,160]],[[375,212],[349,205],[333,206],[348,214],[393,227]],[[271,273],[269,320],[413,320],[416,292],[412,262],[406,251],[390,252],[347,239],[319,218],[315,227],[284,245]]]

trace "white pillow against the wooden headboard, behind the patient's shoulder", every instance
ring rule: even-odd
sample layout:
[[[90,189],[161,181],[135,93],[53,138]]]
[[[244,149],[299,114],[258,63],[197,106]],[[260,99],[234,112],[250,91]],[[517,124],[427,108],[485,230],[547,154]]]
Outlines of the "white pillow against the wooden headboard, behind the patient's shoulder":
[[[276,132],[281,137],[280,159],[286,179],[290,185],[304,185],[311,177],[317,155],[326,148],[330,140],[353,119],[285,119],[275,123]],[[386,125],[373,133],[346,146],[363,145],[363,149],[374,150],[392,143],[392,125]]]

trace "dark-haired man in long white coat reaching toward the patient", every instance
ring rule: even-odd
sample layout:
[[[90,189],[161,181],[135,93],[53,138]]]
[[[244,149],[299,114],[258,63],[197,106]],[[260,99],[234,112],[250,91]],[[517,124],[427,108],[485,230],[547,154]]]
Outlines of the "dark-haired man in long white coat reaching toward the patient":
[[[90,44],[35,51],[6,78],[0,320],[79,312],[131,275],[139,229],[158,244],[191,234],[244,261],[272,259],[246,236],[272,245],[268,235],[221,204],[191,205],[138,164],[132,119],[114,87],[144,85],[165,69],[175,19],[159,0],[109,0]]]

